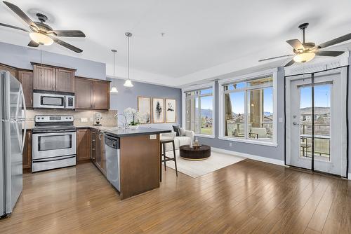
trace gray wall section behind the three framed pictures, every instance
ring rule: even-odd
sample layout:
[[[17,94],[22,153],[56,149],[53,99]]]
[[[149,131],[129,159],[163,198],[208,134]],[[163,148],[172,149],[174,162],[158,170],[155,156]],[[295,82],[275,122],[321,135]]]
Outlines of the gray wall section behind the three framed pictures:
[[[152,85],[133,81],[133,88],[124,87],[124,80],[120,78],[107,78],[112,81],[111,86],[115,85],[118,93],[111,94],[111,109],[122,113],[127,107],[138,109],[138,96],[161,97],[176,99],[177,122],[178,123],[153,123],[143,125],[143,127],[161,128],[171,130],[172,125],[180,125],[182,117],[182,92],[179,88],[170,88],[161,85]]]

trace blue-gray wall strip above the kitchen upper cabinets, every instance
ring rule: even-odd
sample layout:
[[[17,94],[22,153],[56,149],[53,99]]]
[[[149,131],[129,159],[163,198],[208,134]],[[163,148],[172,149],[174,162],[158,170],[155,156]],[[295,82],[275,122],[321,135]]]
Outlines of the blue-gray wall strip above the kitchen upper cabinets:
[[[40,50],[0,42],[0,63],[32,70],[33,67],[30,62],[40,63]],[[42,62],[43,64],[77,69],[77,76],[98,78],[100,80],[105,80],[106,78],[106,65],[102,62],[83,60],[79,57],[60,55],[44,50]]]

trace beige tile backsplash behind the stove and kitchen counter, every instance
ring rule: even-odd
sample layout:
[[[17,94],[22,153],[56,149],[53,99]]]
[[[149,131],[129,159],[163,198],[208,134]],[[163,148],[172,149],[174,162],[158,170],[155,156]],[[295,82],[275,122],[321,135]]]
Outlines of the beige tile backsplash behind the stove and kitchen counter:
[[[117,118],[114,115],[117,113],[115,110],[110,111],[68,111],[68,110],[54,110],[54,109],[35,109],[27,110],[26,123],[27,128],[34,127],[34,116],[39,115],[58,115],[58,116],[73,116],[75,126],[89,126],[93,125],[94,114],[100,112],[102,119],[101,124],[107,126],[116,126]]]

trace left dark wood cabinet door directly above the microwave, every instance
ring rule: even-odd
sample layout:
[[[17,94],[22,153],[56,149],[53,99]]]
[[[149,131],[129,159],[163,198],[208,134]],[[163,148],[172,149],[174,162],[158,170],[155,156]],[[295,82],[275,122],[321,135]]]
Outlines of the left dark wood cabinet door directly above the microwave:
[[[33,88],[55,91],[55,68],[33,65]]]

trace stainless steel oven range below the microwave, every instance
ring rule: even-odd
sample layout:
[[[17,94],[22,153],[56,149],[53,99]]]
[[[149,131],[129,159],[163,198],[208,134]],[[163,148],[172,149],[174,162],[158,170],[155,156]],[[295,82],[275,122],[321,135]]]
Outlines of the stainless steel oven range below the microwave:
[[[76,165],[73,116],[35,116],[32,172]]]

